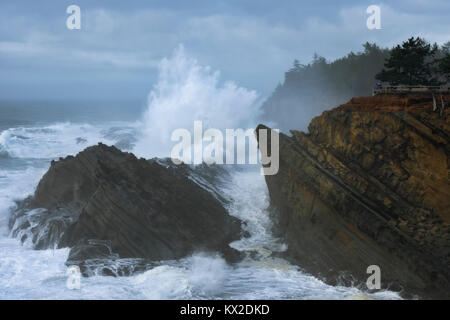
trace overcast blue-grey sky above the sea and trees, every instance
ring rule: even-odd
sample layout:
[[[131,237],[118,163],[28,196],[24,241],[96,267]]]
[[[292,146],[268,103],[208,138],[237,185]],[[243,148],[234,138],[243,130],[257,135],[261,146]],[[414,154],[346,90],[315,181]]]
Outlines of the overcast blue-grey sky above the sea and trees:
[[[66,8],[81,8],[68,30]],[[366,8],[381,6],[381,30]],[[366,41],[450,41],[450,1],[57,0],[0,2],[0,99],[142,99],[183,44],[224,80],[267,96],[294,59],[336,59]]]

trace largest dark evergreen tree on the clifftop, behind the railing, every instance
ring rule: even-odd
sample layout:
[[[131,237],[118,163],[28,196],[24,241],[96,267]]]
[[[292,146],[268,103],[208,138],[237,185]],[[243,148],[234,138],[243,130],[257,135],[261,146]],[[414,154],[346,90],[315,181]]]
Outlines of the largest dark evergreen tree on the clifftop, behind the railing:
[[[384,69],[376,79],[392,85],[436,85],[433,75],[434,55],[437,45],[430,45],[422,38],[410,38],[391,50]]]

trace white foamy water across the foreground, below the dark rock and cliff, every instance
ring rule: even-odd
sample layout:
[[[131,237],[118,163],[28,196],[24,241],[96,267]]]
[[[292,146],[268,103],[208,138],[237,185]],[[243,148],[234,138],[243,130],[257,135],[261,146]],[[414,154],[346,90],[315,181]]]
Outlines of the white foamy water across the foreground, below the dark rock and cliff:
[[[290,266],[242,263],[219,257],[170,261],[132,277],[81,278],[67,288],[68,249],[31,250],[0,239],[0,299],[398,299],[392,292],[367,294],[329,286]],[[281,263],[283,265],[283,263]]]

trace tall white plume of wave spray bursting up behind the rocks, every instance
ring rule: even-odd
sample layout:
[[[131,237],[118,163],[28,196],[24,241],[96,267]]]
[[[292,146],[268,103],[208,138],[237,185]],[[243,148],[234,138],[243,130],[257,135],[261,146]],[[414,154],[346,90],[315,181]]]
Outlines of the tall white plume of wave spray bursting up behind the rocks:
[[[148,97],[134,151],[143,157],[170,156],[172,132],[183,128],[193,136],[194,121],[207,128],[255,128],[258,94],[233,81],[220,80],[220,72],[201,66],[182,46],[159,64],[158,81]]]

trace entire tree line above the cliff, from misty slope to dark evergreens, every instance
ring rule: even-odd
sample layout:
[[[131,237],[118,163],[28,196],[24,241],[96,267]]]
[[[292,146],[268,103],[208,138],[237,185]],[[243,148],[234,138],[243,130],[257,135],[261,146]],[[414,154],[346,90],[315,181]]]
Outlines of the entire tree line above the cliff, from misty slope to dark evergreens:
[[[312,117],[352,97],[370,96],[377,81],[392,85],[439,85],[450,81],[450,42],[442,46],[410,38],[392,49],[365,43],[335,61],[317,54],[295,60],[262,106],[261,120],[281,129],[306,130]]]

